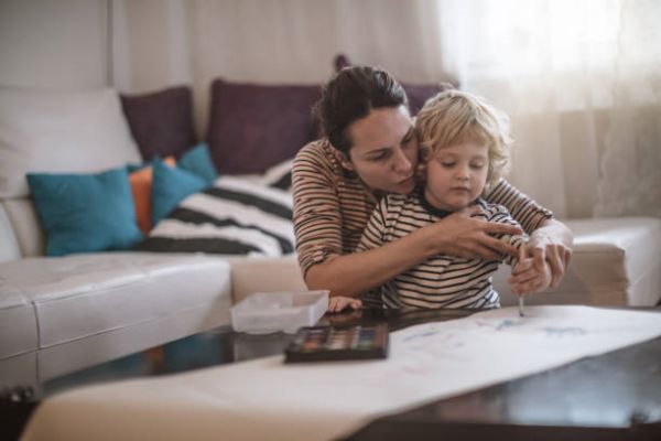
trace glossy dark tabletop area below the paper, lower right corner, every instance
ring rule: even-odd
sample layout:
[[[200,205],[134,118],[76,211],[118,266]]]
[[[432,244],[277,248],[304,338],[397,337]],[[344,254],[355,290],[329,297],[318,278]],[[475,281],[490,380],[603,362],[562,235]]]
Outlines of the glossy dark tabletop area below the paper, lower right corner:
[[[661,440],[661,337],[387,416],[350,439]]]

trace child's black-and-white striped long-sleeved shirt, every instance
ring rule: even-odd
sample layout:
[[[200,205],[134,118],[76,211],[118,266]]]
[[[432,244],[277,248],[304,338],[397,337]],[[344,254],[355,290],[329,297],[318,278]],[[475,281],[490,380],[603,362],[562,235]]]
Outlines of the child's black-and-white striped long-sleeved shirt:
[[[518,225],[502,205],[487,204],[480,200],[476,204],[481,212],[473,217]],[[377,205],[356,250],[378,248],[438,222],[448,214],[426,203],[422,192],[389,194]],[[524,235],[498,237],[517,248],[527,240]],[[511,265],[511,256],[506,261]],[[380,295],[377,295],[386,308],[498,308],[500,302],[491,283],[491,275],[499,263],[495,260],[433,256],[383,284]],[[370,293],[367,300],[375,303],[373,294]]]

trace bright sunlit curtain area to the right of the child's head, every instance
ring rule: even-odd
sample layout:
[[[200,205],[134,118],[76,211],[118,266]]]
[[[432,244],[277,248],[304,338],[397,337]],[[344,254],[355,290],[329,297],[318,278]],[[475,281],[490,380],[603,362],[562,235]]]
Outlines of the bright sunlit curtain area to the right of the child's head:
[[[437,3],[444,67],[509,112],[510,180],[559,216],[661,215],[660,7]]]

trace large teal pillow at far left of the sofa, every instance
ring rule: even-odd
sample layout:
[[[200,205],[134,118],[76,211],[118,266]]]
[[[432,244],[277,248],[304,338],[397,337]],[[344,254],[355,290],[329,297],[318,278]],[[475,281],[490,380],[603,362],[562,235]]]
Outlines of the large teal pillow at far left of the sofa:
[[[98,174],[29,173],[46,255],[130,249],[142,240],[126,168]]]

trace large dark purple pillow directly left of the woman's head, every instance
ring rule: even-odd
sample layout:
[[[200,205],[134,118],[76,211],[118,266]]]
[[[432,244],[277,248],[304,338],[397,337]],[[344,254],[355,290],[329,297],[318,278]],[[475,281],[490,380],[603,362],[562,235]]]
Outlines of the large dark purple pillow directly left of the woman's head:
[[[261,173],[315,138],[321,86],[212,84],[207,143],[219,173]]]

